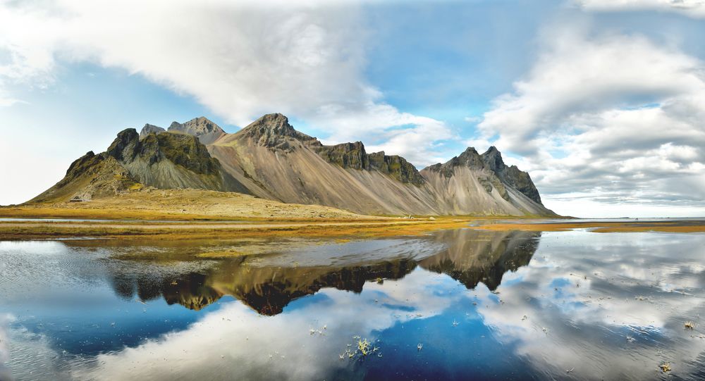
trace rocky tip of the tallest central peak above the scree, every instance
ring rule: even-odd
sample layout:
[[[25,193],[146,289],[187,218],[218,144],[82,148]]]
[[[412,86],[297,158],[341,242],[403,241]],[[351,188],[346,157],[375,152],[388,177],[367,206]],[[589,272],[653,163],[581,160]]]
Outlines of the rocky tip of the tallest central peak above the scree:
[[[290,149],[289,138],[302,142],[317,141],[314,137],[294,130],[289,124],[289,119],[280,113],[266,114],[247,125],[238,134],[250,137],[260,146],[271,149]]]

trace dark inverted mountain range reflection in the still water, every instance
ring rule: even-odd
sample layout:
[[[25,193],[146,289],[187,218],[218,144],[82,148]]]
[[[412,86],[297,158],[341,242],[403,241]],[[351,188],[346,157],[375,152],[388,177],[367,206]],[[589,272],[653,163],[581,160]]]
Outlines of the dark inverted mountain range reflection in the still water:
[[[417,266],[445,273],[467,288],[483,282],[496,289],[508,271],[526,266],[538,246],[539,232],[481,232],[452,230],[427,239],[445,247],[424,258],[378,258],[345,266],[279,266],[268,264],[266,256],[240,257],[219,261],[198,273],[114,274],[114,292],[125,299],[142,301],[160,296],[168,304],[180,304],[198,311],[231,295],[262,315],[274,316],[290,301],[315,294],[323,288],[362,292],[369,281],[398,280]],[[340,245],[331,244],[331,255]],[[397,254],[395,254],[397,255]],[[272,261],[278,263],[277,261]],[[333,262],[333,261],[331,261]]]

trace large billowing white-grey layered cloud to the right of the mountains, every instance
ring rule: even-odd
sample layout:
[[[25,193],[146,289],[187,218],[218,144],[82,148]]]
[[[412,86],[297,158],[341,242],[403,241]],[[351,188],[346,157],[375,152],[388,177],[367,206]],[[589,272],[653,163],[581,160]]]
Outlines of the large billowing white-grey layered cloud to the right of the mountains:
[[[705,188],[684,186],[701,184],[705,163],[704,63],[640,36],[568,29],[550,40],[484,114],[481,138],[523,155],[548,200],[705,211]]]

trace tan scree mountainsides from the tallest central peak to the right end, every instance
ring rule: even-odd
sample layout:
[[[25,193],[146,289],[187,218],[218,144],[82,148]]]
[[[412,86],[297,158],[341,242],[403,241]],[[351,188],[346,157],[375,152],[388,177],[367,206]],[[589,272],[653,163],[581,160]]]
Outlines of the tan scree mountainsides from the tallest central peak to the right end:
[[[264,115],[208,149],[253,194],[287,203],[372,214],[553,215],[528,174],[506,167],[496,150],[419,173],[400,156],[367,154],[362,142],[321,144],[281,114]]]

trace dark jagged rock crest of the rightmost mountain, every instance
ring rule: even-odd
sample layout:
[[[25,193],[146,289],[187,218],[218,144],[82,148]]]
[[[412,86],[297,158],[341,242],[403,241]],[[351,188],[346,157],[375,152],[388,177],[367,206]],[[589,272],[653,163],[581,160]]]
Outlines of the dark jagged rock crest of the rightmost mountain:
[[[430,165],[426,169],[441,173],[449,178],[453,176],[453,170],[458,166],[467,166],[474,170],[486,170],[493,174],[478,177],[477,179],[488,193],[493,188],[496,188],[503,199],[508,199],[504,185],[509,185],[522,192],[529,199],[536,201],[537,204],[543,205],[539,191],[536,189],[531,177],[529,177],[529,173],[520,170],[516,165],[511,167],[506,165],[502,159],[502,154],[495,146],[489,147],[482,155],[478,154],[474,148],[468,147],[460,156],[455,156],[443,164]]]

